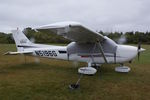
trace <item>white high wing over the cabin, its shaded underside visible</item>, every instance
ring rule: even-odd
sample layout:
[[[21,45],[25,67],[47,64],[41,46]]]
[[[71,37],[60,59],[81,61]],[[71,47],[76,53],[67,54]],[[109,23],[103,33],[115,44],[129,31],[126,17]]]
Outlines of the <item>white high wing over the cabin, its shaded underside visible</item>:
[[[53,32],[78,43],[93,43],[104,40],[103,35],[77,22],[60,22],[35,28],[36,31]]]

